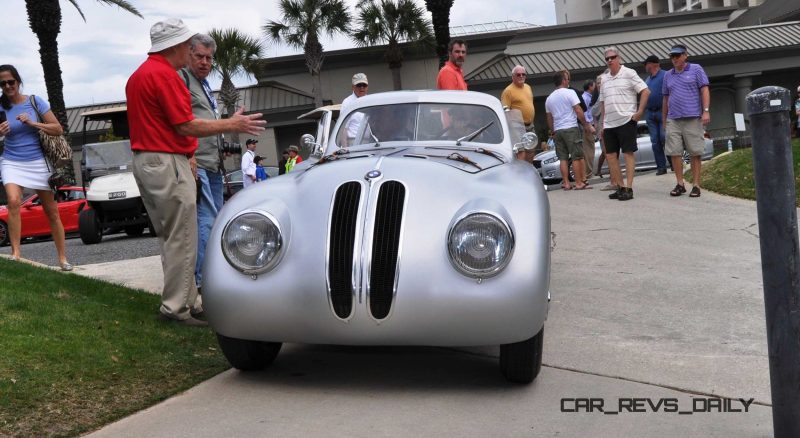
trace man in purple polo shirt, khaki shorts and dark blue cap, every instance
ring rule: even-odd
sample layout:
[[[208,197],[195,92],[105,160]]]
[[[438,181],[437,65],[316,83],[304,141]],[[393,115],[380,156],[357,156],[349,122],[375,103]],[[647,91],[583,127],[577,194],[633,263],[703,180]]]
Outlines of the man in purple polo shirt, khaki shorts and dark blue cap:
[[[686,193],[683,182],[683,151],[692,159],[692,182],[689,193],[692,198],[700,196],[700,156],[705,148],[704,126],[711,121],[708,76],[697,64],[686,62],[686,46],[676,44],[669,51],[672,69],[664,76],[662,91],[664,103],[662,119],[666,120],[667,143],[664,148],[672,160],[678,183],[669,194],[680,196]]]

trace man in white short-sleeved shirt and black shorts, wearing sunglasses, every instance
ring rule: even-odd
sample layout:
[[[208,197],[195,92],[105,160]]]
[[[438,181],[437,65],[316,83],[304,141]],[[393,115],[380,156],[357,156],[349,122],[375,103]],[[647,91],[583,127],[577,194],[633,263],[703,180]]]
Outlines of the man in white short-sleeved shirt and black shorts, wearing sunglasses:
[[[601,135],[606,144],[611,181],[620,184],[619,189],[608,195],[608,198],[628,201],[633,199],[633,174],[636,168],[634,153],[638,150],[636,123],[642,120],[650,89],[633,69],[622,65],[619,49],[609,47],[603,53],[608,73],[602,75],[598,98],[603,119]],[[617,157],[620,151],[625,157],[625,181],[622,180],[622,169]]]

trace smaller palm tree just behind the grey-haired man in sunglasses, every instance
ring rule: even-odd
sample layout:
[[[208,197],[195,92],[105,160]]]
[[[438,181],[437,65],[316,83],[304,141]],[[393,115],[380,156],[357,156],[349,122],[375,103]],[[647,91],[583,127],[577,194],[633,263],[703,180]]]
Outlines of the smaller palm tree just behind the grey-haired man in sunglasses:
[[[256,38],[234,28],[211,29],[208,36],[217,43],[213,68],[222,76],[219,100],[228,115],[231,115],[236,111],[236,104],[239,102],[239,90],[233,85],[232,78],[242,74],[255,74],[256,62],[263,56],[264,46]],[[234,133],[232,141],[238,143],[238,137],[239,134]]]

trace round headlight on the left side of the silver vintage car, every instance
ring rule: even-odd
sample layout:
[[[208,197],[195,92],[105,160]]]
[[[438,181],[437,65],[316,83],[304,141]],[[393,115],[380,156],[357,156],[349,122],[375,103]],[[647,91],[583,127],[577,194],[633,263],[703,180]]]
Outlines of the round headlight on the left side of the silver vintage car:
[[[260,274],[278,262],[283,239],[276,220],[260,212],[245,212],[222,232],[222,253],[234,268]]]

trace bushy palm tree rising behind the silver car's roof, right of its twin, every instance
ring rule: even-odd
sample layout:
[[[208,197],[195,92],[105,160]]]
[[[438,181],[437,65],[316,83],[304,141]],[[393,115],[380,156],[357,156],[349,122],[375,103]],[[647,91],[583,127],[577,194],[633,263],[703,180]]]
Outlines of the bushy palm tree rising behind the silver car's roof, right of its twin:
[[[400,90],[400,68],[403,66],[400,41],[429,42],[431,25],[425,19],[425,11],[413,0],[379,1],[361,0],[358,3],[360,12],[353,40],[361,47],[387,44],[383,58],[392,70],[394,89]]]

